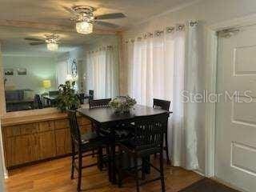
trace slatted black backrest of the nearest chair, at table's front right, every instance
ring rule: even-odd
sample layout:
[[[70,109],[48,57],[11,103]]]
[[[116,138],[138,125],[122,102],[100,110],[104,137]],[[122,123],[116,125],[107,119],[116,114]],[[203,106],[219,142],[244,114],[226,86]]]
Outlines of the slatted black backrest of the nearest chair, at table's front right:
[[[138,117],[134,121],[134,138],[138,148],[162,147],[168,114]]]

